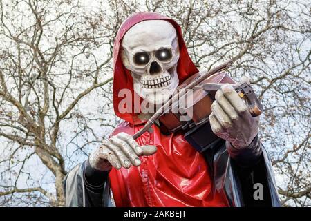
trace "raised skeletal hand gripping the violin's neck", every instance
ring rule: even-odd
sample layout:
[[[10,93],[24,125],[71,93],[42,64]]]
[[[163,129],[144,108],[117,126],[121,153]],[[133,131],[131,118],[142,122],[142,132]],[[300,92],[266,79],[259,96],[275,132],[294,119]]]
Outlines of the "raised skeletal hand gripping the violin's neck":
[[[249,84],[249,79],[243,77]],[[235,148],[246,148],[258,134],[259,117],[252,117],[236,90],[226,84],[216,92],[209,122],[212,131]]]

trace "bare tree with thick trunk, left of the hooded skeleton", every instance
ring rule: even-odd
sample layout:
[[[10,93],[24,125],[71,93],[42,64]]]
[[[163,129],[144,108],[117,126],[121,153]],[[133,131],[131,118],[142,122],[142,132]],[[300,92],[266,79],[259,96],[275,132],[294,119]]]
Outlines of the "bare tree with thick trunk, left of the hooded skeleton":
[[[107,26],[102,6],[98,7],[88,10],[71,1],[1,1],[0,136],[6,144],[1,180],[7,185],[1,184],[4,191],[0,196],[37,191],[53,206],[64,204],[62,126],[75,121],[77,135],[92,133],[86,121],[95,119],[82,115],[78,104],[111,81],[105,70],[111,70],[115,34]],[[110,96],[106,99],[111,102]],[[97,120],[114,125],[105,114]],[[94,135],[88,144],[94,140],[100,141]],[[17,157],[20,152],[23,156]],[[39,182],[44,180],[25,187],[28,180],[39,178],[26,175],[24,168],[34,157],[55,177],[55,194],[41,187]],[[25,176],[26,185],[19,188],[19,180]]]

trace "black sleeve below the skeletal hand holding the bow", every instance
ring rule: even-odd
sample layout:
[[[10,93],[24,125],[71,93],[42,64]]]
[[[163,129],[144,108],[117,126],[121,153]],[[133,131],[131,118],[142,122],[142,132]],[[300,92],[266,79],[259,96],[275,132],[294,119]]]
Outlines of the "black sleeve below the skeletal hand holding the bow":
[[[109,171],[97,171],[86,160],[84,164],[84,184],[86,191],[86,205],[88,207],[102,207],[103,191],[108,180]]]

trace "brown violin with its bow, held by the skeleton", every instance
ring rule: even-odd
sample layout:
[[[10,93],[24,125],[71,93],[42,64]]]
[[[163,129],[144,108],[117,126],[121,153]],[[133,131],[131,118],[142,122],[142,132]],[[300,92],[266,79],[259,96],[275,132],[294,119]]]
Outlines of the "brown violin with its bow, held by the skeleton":
[[[133,135],[133,139],[148,131],[155,122],[159,122],[162,133],[185,133],[185,140],[202,153],[218,138],[211,131],[209,115],[216,91],[223,84],[232,84],[253,117],[261,115],[263,106],[253,88],[247,83],[236,84],[234,79],[225,73],[232,63],[232,60],[227,61],[208,72],[198,72],[183,81],[176,93]]]

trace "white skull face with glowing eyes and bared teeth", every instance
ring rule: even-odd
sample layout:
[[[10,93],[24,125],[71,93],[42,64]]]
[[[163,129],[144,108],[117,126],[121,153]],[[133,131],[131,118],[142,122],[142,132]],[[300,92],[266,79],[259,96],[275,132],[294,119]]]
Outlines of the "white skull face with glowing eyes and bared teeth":
[[[178,86],[178,37],[163,20],[135,24],[122,40],[122,63],[131,71],[135,93],[151,104],[166,102]]]

